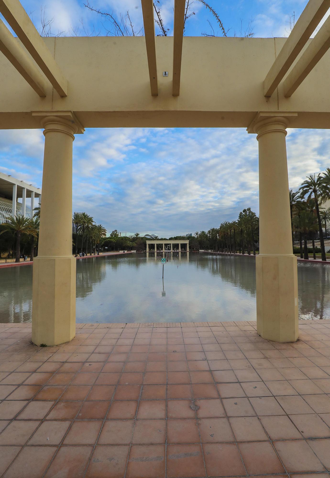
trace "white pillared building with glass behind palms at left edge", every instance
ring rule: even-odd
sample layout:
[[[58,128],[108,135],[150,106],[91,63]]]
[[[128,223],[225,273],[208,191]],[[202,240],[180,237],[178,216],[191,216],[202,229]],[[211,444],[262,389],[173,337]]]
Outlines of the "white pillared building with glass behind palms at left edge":
[[[22,197],[22,203],[17,199]],[[27,199],[30,199],[30,206]],[[33,217],[34,200],[41,200],[41,189],[32,184],[24,183],[20,179],[0,173],[0,223],[9,222],[7,217],[22,214],[24,217]]]

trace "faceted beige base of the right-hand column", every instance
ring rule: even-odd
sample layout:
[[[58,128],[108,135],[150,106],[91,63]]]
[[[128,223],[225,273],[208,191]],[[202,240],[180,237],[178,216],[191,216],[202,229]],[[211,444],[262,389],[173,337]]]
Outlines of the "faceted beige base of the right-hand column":
[[[297,257],[255,258],[257,333],[275,342],[298,338]]]

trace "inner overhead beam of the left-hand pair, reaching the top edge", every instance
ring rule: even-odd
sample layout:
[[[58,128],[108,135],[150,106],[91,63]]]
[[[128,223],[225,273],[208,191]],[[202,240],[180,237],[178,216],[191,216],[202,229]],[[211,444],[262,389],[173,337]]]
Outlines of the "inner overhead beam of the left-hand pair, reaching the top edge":
[[[0,0],[0,12],[57,93],[67,96],[67,80],[19,0]]]

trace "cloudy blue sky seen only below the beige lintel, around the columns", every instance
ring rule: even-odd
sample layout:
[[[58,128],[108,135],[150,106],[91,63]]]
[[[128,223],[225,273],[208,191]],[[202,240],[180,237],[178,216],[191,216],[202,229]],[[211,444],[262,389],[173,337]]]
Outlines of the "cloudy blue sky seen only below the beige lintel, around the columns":
[[[0,170],[40,186],[43,145],[41,130],[2,131]],[[73,151],[74,210],[110,231],[168,237],[258,213],[258,143],[243,129],[87,130]],[[289,129],[290,187],[325,170],[329,151],[329,130]]]

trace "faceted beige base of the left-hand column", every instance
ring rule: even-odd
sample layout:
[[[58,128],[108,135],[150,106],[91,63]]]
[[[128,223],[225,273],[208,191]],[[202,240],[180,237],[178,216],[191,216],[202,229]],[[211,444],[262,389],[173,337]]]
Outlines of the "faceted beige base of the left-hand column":
[[[33,260],[32,341],[47,346],[76,335],[76,259]]]

